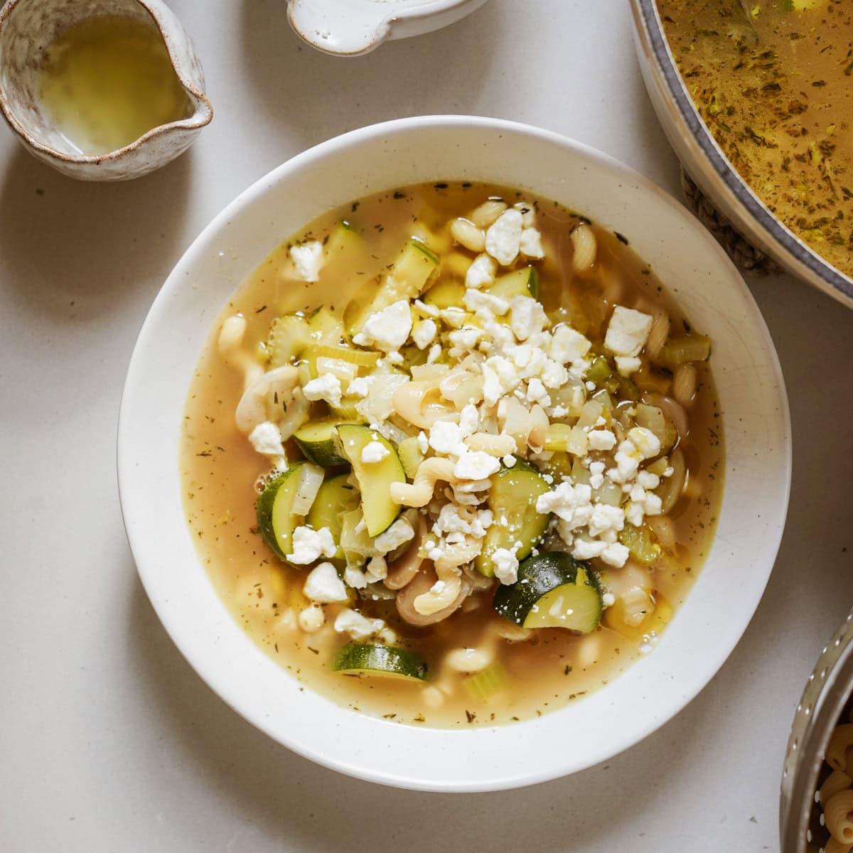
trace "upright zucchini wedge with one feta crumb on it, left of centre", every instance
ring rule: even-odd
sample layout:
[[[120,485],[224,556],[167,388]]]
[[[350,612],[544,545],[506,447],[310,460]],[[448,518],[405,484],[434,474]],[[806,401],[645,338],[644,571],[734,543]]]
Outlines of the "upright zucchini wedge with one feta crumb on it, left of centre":
[[[377,537],[392,525],[400,512],[400,505],[391,499],[392,483],[406,482],[400,457],[392,444],[370,427],[341,424],[336,432],[339,453],[350,461],[352,473],[356,475],[358,489],[362,493],[362,511],[368,536]],[[388,453],[380,461],[363,462],[362,451],[371,442],[379,442]]]

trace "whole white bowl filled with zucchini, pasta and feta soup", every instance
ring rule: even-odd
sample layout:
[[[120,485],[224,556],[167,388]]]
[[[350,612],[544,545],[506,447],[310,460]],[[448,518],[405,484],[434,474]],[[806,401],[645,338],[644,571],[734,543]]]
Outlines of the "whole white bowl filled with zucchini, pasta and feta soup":
[[[408,119],[200,236],[119,476],[148,595],[229,704],[335,769],[485,790],[601,761],[713,675],[789,430],[746,288],[664,194],[543,131]]]

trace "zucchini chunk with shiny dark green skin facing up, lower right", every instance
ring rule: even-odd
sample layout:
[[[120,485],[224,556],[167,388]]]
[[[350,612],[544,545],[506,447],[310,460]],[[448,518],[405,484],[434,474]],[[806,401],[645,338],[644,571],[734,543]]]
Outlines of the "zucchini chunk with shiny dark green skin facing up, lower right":
[[[530,557],[519,579],[495,593],[503,618],[525,628],[566,628],[589,634],[601,622],[601,586],[587,563],[565,551]]]

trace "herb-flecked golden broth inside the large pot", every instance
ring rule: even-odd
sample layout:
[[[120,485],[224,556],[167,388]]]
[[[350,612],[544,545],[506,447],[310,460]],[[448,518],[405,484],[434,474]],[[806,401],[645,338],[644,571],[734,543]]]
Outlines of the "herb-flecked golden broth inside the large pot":
[[[853,5],[658,0],[699,114],[740,176],[815,252],[853,275]]]

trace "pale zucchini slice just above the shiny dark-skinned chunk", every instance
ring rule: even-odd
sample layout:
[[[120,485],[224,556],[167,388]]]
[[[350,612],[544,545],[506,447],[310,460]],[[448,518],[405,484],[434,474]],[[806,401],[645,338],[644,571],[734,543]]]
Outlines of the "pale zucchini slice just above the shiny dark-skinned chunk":
[[[483,550],[474,563],[481,575],[495,576],[491,558],[498,548],[507,548],[524,560],[542,540],[550,516],[537,513],[536,500],[548,488],[542,474],[521,459],[496,473],[486,497],[494,522],[486,531]],[[517,542],[521,543],[520,548],[515,548]]]

